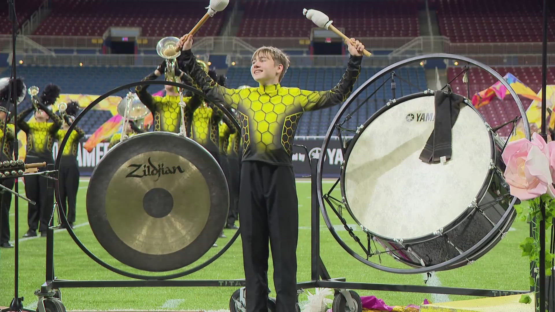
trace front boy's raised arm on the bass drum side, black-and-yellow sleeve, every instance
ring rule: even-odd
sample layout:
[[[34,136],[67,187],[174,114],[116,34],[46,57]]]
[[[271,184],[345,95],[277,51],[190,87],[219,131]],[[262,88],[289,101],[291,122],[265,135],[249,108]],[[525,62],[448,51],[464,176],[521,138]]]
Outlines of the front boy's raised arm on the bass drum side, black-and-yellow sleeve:
[[[347,63],[347,70],[331,90],[307,91],[301,90],[301,105],[304,110],[316,110],[343,103],[351,94],[356,78],[360,74],[362,57],[351,56]]]

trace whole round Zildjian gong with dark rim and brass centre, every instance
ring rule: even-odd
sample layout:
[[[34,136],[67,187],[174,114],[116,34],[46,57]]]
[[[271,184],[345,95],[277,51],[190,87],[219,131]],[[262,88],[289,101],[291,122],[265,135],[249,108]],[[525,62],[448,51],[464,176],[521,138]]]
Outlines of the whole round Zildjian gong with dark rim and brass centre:
[[[87,190],[90,228],[115,259],[170,271],[200,259],[228,217],[228,185],[200,144],[169,132],[134,135],[94,168]]]

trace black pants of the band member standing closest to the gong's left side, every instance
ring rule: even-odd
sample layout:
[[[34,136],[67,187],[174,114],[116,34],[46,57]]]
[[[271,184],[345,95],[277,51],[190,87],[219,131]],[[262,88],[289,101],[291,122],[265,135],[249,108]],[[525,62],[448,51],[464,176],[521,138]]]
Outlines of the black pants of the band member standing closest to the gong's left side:
[[[74,156],[62,157],[59,172],[59,207],[62,208],[69,223],[75,222],[75,204],[79,190],[79,167]]]

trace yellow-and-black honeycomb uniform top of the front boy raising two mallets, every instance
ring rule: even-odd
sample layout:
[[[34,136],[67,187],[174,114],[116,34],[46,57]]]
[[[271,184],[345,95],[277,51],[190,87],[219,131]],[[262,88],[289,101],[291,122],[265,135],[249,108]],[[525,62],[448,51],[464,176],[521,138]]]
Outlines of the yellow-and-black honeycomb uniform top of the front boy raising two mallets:
[[[328,91],[308,91],[281,87],[280,84],[258,88],[228,89],[216,84],[196,63],[191,51],[184,66],[210,100],[219,100],[239,111],[243,137],[243,161],[291,165],[291,149],[302,114],[327,108],[347,99],[360,73],[362,57],[351,56],[340,82]]]

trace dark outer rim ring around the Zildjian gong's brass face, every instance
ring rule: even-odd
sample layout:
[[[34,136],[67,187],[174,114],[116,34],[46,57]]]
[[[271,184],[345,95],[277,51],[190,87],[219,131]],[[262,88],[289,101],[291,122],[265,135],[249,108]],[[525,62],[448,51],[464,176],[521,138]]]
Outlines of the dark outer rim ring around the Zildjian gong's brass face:
[[[140,133],[140,134],[137,134],[137,135],[133,135],[133,137],[129,137],[128,139],[125,139],[125,140],[122,141],[121,143],[122,143],[122,144],[126,144],[126,145],[127,145],[127,144],[133,144],[133,142],[134,142],[135,140],[137,140],[137,139],[140,139],[140,138],[143,138],[143,137],[152,137],[152,136],[154,136],[154,135],[156,135],[156,136],[161,136],[161,137],[163,137],[163,138],[165,137],[166,139],[168,139],[168,138],[171,138],[171,139],[176,138],[176,139],[178,139],[178,140],[184,140],[184,142],[186,141],[186,144],[189,144],[189,146],[195,145],[195,146],[198,148],[198,151],[199,151],[199,152],[203,152],[203,153],[205,154],[205,155],[203,155],[203,157],[209,156],[209,157],[213,160],[213,165],[214,165],[214,164],[216,165],[213,169],[215,170],[216,167],[217,167],[217,169],[219,169],[219,173],[221,174],[221,176],[222,176],[222,177],[224,176],[224,174],[223,174],[223,172],[222,172],[222,170],[221,170],[221,167],[219,166],[218,162],[216,162],[215,158],[214,158],[204,147],[202,147],[202,145],[200,145],[199,143],[195,142],[194,140],[192,140],[192,139],[190,139],[190,138],[183,137],[182,135],[179,135],[179,134],[176,134],[176,133],[173,133],[173,132],[162,132],[162,131],[157,131],[157,132],[145,132],[145,133]],[[99,163],[98,163],[97,166],[94,168],[93,173],[92,173],[91,176],[90,176],[90,177],[91,177],[91,180],[94,178],[94,174],[95,174],[95,172],[97,172],[97,169],[100,168],[99,164],[101,164],[102,161],[105,160],[105,159],[108,159],[108,160],[110,159],[110,156],[109,156],[109,155],[111,154],[110,152],[112,152],[112,150],[118,150],[118,148],[117,148],[116,146],[120,146],[120,147],[121,147],[122,145],[120,145],[120,144],[118,143],[117,145],[114,146],[114,148],[110,149],[110,150],[104,155],[104,157],[103,157],[102,159],[100,159]],[[119,152],[121,152],[121,151],[119,151]],[[106,161],[108,161],[108,160],[106,160]],[[191,163],[192,163],[192,162],[191,162]],[[193,163],[193,164],[194,164],[194,163]],[[194,165],[195,165],[195,164],[194,164]],[[196,167],[196,165],[195,165],[195,167]],[[212,173],[212,174],[218,174],[218,172],[215,172],[215,173]],[[203,174],[203,175],[205,175],[205,174]],[[223,183],[226,184],[225,190],[228,190],[226,180],[225,180],[225,179],[219,179],[219,180],[223,181]],[[108,187],[108,184],[109,184],[109,183],[106,183],[106,184],[105,184],[105,187]],[[89,194],[90,194],[90,193],[89,193],[88,191],[89,191],[90,185],[91,185],[91,183],[89,183],[89,187],[88,187],[88,189],[87,189],[87,198],[86,198],[87,203],[88,203],[88,201],[89,201]],[[102,184],[100,184],[100,185],[102,185]],[[209,190],[213,190],[214,186],[211,186],[210,184],[208,184],[208,188],[209,188]],[[102,189],[105,190],[105,188],[102,188]],[[223,193],[227,193],[227,192],[223,192]],[[220,204],[223,203],[223,202],[221,201],[222,199],[224,200],[224,202],[225,202],[226,200],[229,199],[229,195],[222,196],[221,194],[222,194],[222,192],[218,192],[218,196],[220,197],[220,200],[216,200],[216,202],[218,202],[218,203],[220,203]],[[210,192],[210,198],[213,199],[213,197],[214,197],[213,192]],[[102,208],[95,210],[95,212],[96,212],[96,213],[104,213],[104,214],[105,214],[105,206],[104,206],[104,204],[97,204],[97,205],[102,205]],[[221,216],[220,216],[221,218],[219,218],[219,219],[223,220],[223,222],[225,223],[225,218],[226,218],[227,215],[228,215],[227,210],[226,210],[225,213],[219,212],[219,211],[218,211],[219,209],[218,209],[218,207],[216,207],[216,206],[218,206],[218,204],[215,203],[214,200],[211,200],[211,203],[210,203],[210,211],[209,211],[209,217],[208,217],[208,220],[207,220],[207,222],[206,222],[206,223],[207,223],[207,226],[209,226],[210,223],[213,223],[213,222],[214,222],[214,219],[217,219],[218,216],[219,216],[220,214],[221,214]],[[100,229],[106,227],[107,225],[106,225],[106,224],[101,224],[102,227],[99,227],[99,225],[94,225],[95,222],[96,222],[97,220],[91,220],[92,217],[91,217],[91,215],[90,215],[90,213],[89,213],[89,208],[88,208],[88,207],[89,207],[89,205],[87,204],[87,218],[88,218],[88,220],[89,220],[90,228],[91,228],[91,230],[92,230],[92,232],[93,232],[93,235],[94,235],[95,238],[97,239],[98,243],[104,248],[104,250],[105,250],[105,251],[108,251],[106,242],[107,242],[109,239],[103,238],[102,236],[99,238],[99,236],[97,235],[98,233],[100,233]],[[228,202],[228,208],[227,208],[227,209],[229,209],[229,202]],[[225,215],[225,216],[224,216],[224,215]],[[102,217],[94,217],[93,219],[99,219],[99,218],[102,218]],[[212,221],[211,221],[211,219],[212,219]],[[97,230],[95,231],[95,229],[97,229]],[[113,229],[112,229],[111,227],[108,227],[108,230],[111,230],[111,231],[113,232]],[[203,228],[203,229],[201,230],[201,233],[203,233],[205,230],[206,230],[206,227]],[[199,234],[199,236],[198,236],[193,242],[191,242],[191,244],[194,244],[194,243],[199,239],[201,233]],[[219,233],[219,232],[218,232],[218,233]],[[172,256],[172,255],[178,255],[178,254],[183,254],[183,253],[190,254],[189,247],[190,247],[191,244],[189,244],[189,245],[187,245],[187,246],[184,246],[183,248],[180,248],[179,250],[176,250],[176,251],[174,251],[174,252],[172,252],[172,253],[170,253],[170,254],[163,254],[163,255],[148,255],[148,254],[144,254],[144,253],[142,253],[142,252],[140,252],[140,251],[138,251],[138,250],[135,250],[135,249],[131,248],[131,247],[128,246],[127,244],[125,244],[123,241],[121,241],[121,240],[118,238],[117,235],[115,235],[115,233],[112,233],[112,234],[113,234],[113,235],[112,235],[112,237],[110,238],[110,240],[118,239],[118,241],[117,241],[118,245],[122,245],[123,248],[129,249],[129,250],[128,250],[128,253],[132,253],[134,256],[143,257],[143,258],[144,258],[145,256],[148,256],[149,258],[164,259],[164,258],[166,258],[166,257],[168,257],[168,256]],[[122,254],[116,253],[116,254],[118,255],[118,256],[116,256],[116,255],[114,255],[114,254],[113,254],[112,252],[110,252],[110,251],[108,251],[108,254],[109,254],[110,256],[112,256],[114,259],[118,260],[120,263],[122,263],[122,264],[124,264],[124,265],[127,265],[127,266],[130,266],[131,268],[134,268],[134,269],[139,269],[139,270],[144,270],[144,271],[151,271],[151,272],[171,271],[171,270],[176,270],[176,269],[184,268],[185,266],[190,265],[190,264],[194,263],[195,261],[198,261],[199,259],[201,259],[202,256],[204,256],[204,255],[206,254],[206,252],[208,252],[208,250],[210,250],[211,246],[215,243],[215,241],[216,241],[217,239],[218,239],[218,235],[214,235],[214,238],[213,238],[214,241],[212,241],[210,244],[206,244],[206,245],[205,245],[205,248],[204,248],[203,250],[200,251],[201,254],[200,254],[200,256],[198,256],[197,259],[194,259],[194,260],[192,260],[192,261],[191,261],[191,260],[188,260],[188,261],[181,261],[181,262],[178,263],[179,265],[175,265],[175,264],[174,264],[174,266],[171,266],[171,267],[168,266],[168,265],[166,265],[166,266],[159,265],[159,266],[156,266],[157,269],[152,268],[152,267],[149,267],[149,266],[144,266],[144,265],[142,265],[142,264],[141,264],[141,261],[135,261],[135,260],[133,259],[133,257],[132,257],[132,256],[129,256],[128,254],[125,254],[125,255],[122,256]],[[200,244],[200,243],[196,242],[196,244]],[[114,246],[113,246],[113,245],[110,245],[110,246],[109,246],[109,249],[110,249],[110,250],[114,250]],[[129,258],[131,258],[131,259],[129,259]],[[163,263],[163,262],[162,262],[162,263]]]

